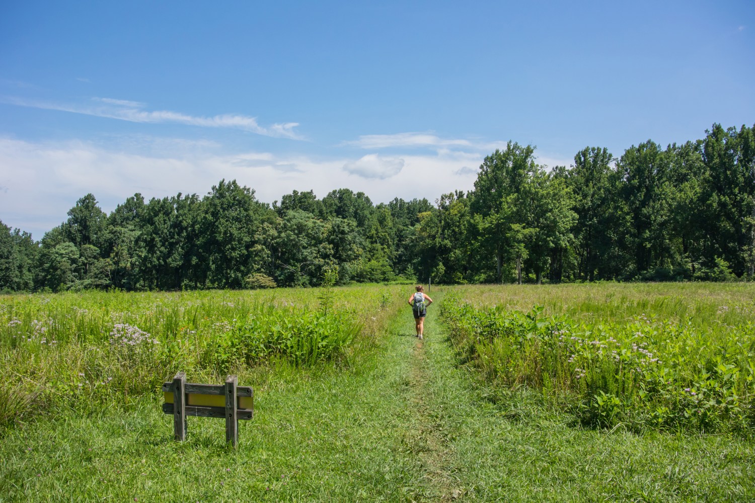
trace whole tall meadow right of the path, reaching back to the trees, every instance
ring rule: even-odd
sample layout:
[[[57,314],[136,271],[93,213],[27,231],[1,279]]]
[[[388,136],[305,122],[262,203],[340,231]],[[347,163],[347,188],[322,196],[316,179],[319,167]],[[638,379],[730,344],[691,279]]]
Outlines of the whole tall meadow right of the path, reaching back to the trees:
[[[442,315],[487,379],[540,390],[586,424],[749,433],[751,289],[622,285],[621,296],[615,289],[467,289],[466,299],[444,300]],[[549,308],[512,308],[526,302],[516,292]]]

